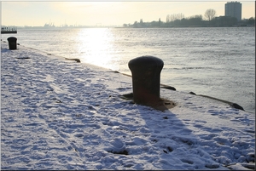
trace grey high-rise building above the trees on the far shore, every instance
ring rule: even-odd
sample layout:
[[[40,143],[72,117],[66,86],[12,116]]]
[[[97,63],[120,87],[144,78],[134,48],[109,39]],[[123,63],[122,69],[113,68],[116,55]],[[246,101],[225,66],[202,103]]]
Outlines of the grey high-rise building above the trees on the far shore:
[[[225,16],[236,17],[237,21],[241,20],[241,3],[225,3]]]

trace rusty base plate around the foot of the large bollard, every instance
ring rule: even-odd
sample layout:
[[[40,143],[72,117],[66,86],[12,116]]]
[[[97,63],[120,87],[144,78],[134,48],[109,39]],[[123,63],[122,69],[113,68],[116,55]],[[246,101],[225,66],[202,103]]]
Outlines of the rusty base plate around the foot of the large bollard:
[[[123,95],[121,95],[121,98],[123,98],[125,100],[132,100],[133,103],[135,103],[133,100],[133,93],[123,94]],[[159,110],[159,111],[166,111],[166,110],[172,109],[173,107],[176,106],[176,104],[172,100],[167,100],[164,98],[160,98],[159,100],[155,100],[154,102],[151,102],[151,103],[136,103],[136,104],[147,105],[147,106],[153,107],[154,109]]]

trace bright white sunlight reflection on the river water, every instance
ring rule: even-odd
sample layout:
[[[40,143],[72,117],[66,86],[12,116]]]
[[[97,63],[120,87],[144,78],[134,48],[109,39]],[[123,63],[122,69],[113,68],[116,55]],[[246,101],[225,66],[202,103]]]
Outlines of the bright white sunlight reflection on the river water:
[[[81,29],[77,36],[79,58],[82,62],[118,70],[113,54],[113,34],[108,28]]]

